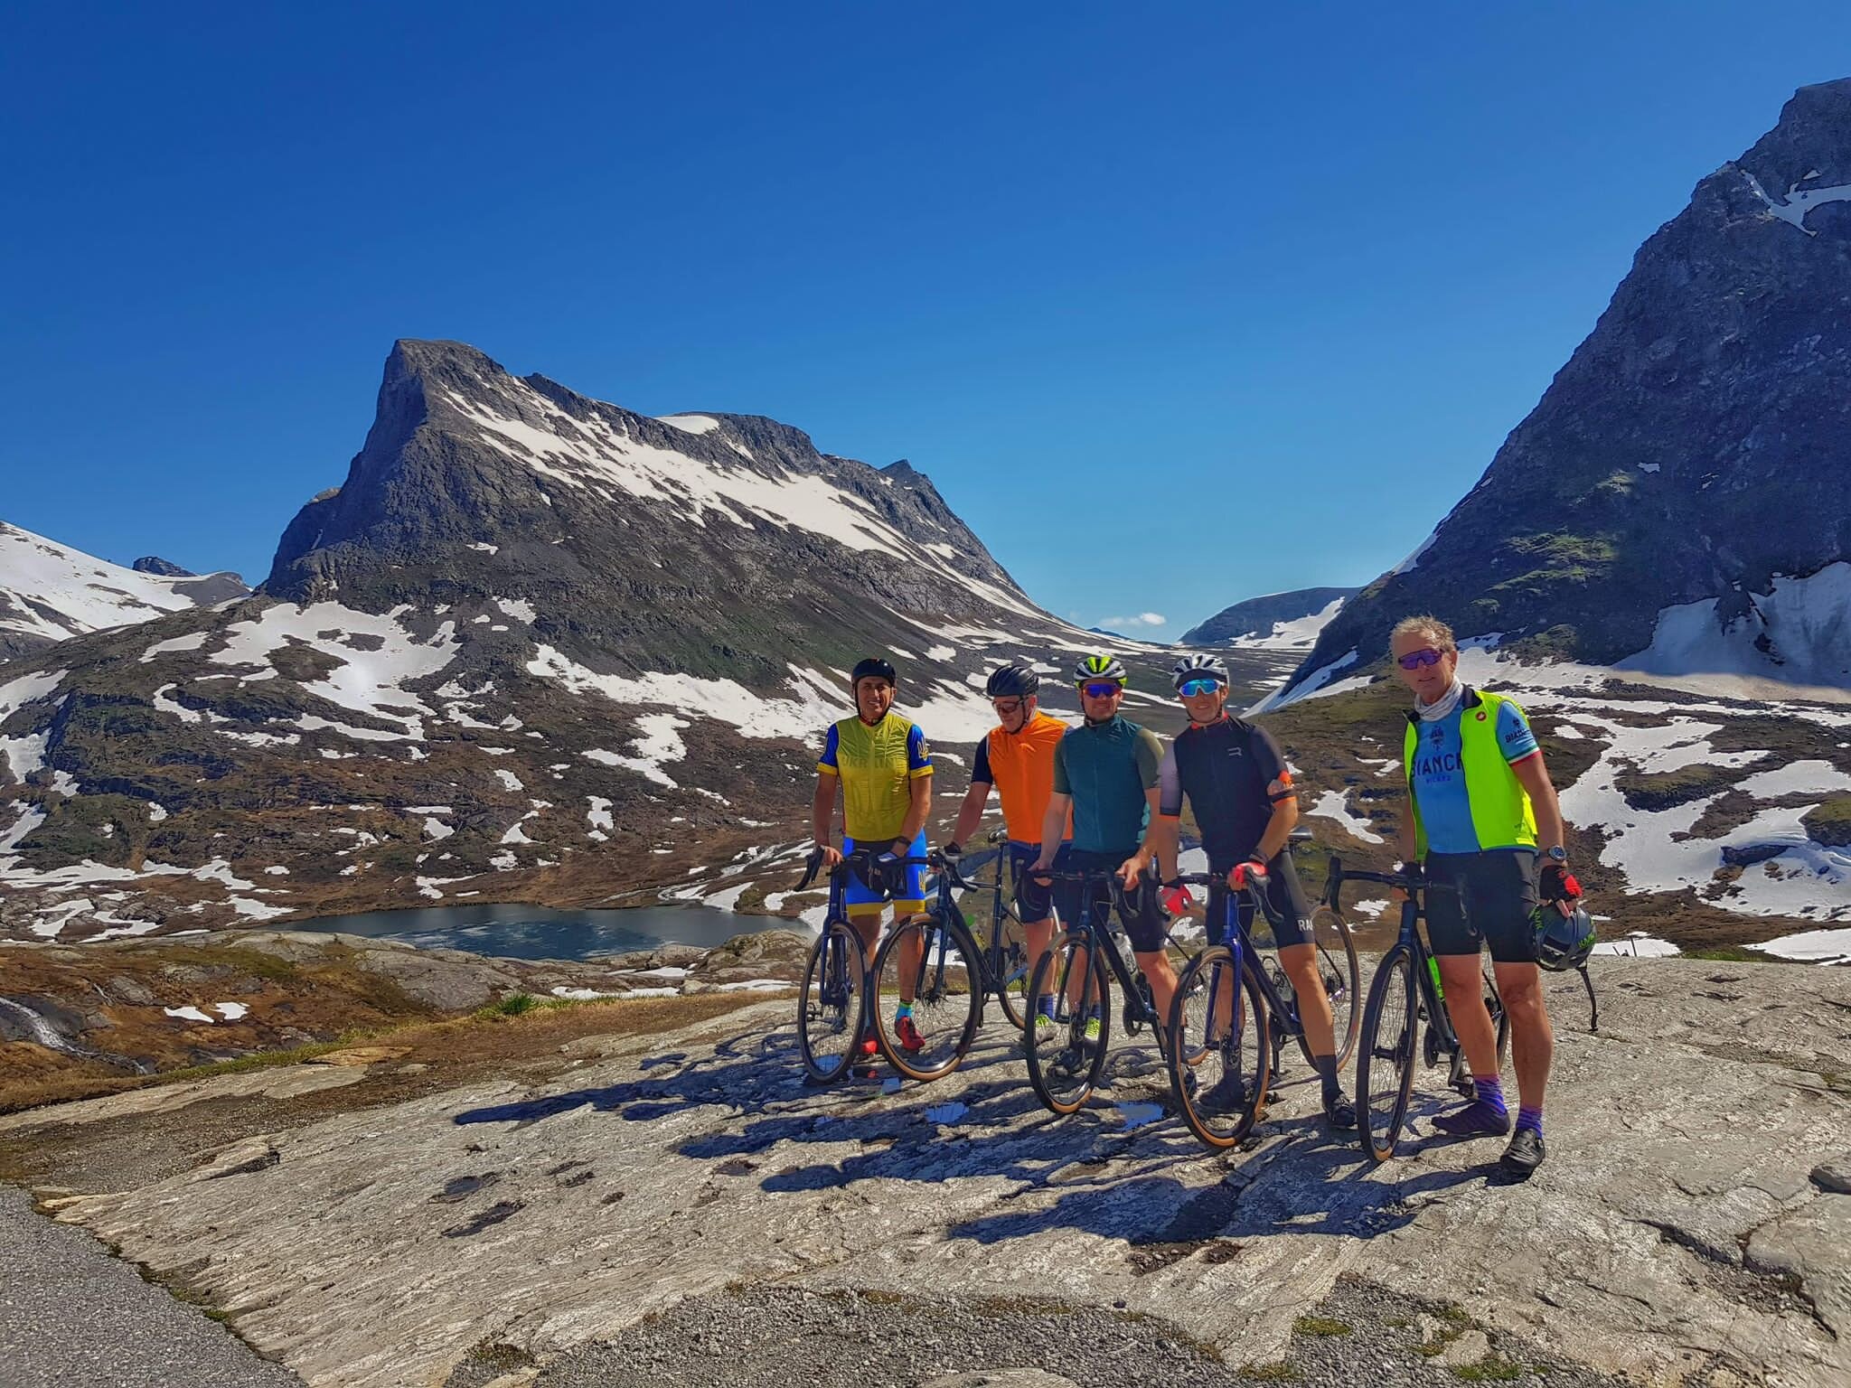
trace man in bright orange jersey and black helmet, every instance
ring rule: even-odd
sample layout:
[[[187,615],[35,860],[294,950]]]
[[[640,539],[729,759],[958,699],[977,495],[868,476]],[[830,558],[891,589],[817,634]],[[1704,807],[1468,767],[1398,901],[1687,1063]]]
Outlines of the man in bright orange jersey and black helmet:
[[[1005,664],[992,670],[983,692],[990,696],[998,725],[977,744],[970,790],[957,811],[957,827],[951,829],[951,842],[944,851],[957,853],[964,838],[977,831],[994,787],[1003,801],[1003,824],[1009,827],[1016,914],[1027,936],[1027,966],[1033,972],[1053,940],[1053,888],[1035,881],[1027,870],[1040,857],[1042,818],[1048,812],[1048,796],[1053,794],[1053,753],[1066,733],[1066,724],[1040,711],[1040,675],[1027,666]],[[1066,837],[1072,835],[1070,816]],[[1055,853],[1053,866],[1064,872],[1066,859]],[[1044,1036],[1053,1036],[1051,996],[1035,999],[1029,1025],[1040,1029]]]

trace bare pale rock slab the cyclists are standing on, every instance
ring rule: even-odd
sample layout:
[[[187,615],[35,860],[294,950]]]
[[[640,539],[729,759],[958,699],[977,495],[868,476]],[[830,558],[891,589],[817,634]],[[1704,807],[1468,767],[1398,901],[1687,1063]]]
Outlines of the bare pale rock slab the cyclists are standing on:
[[[1497,1144],[1435,1138],[1438,1072],[1381,1168],[1323,1131],[1296,1060],[1255,1138],[1220,1159],[1153,1116],[1148,1049],[1116,1049],[1111,1092],[1066,1120],[1037,1105],[994,1010],[948,1081],[809,1090],[785,999],[574,1042],[542,1084],[489,1079],[248,1133],[194,1170],[65,1197],[57,1218],[154,1275],[185,1270],[311,1384],[487,1382],[470,1377],[485,1347],[540,1382],[631,1382],[590,1371],[622,1360],[600,1345],[727,1297],[840,1307],[850,1292],[946,1316],[1014,1303],[1024,1325],[1029,1303],[1083,1312],[1081,1344],[1127,1321],[1137,1345],[1192,1347],[1190,1382],[1233,1382],[1201,1369],[1303,1357],[1301,1318],[1348,1286],[1436,1308],[1451,1338],[1433,1357],[1473,1327],[1488,1353],[1522,1344],[1527,1362],[1644,1382],[1844,1384],[1851,1197],[1810,1173],[1844,1159],[1851,1131],[1851,973],[1764,964],[1720,990],[1716,970],[1597,960],[1599,1036],[1579,1031],[1579,981],[1551,979],[1551,1157],[1522,1184],[1497,1179]],[[6,1122],[78,1123],[115,1101]],[[1416,1310],[1388,1329],[1425,1344]],[[1005,1368],[1120,1381],[996,1357],[894,1377],[879,1336],[859,1344],[863,1382]],[[718,1362],[746,1381],[833,1382],[801,1360],[753,1373],[742,1347],[720,1336]],[[666,1357],[650,1381],[720,1379]]]

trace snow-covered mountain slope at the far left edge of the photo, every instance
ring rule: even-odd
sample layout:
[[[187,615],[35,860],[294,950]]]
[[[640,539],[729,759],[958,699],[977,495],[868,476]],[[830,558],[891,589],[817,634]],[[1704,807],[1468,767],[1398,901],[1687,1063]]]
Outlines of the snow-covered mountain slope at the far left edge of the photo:
[[[0,520],[0,657],[244,592],[233,574],[137,574]]]

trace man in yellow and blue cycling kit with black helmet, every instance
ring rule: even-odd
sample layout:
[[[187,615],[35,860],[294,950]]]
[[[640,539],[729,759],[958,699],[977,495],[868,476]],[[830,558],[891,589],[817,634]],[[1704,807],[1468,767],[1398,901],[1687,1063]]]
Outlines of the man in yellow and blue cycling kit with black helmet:
[[[831,724],[816,759],[816,794],[811,799],[811,825],[824,864],[833,868],[844,855],[872,849],[881,859],[926,857],[926,814],[931,811],[931,753],[926,735],[892,711],[898,692],[894,666],[868,657],[851,675],[855,716]],[[833,840],[835,801],[842,799],[842,848]],[[894,918],[907,920],[926,911],[926,868],[894,864],[883,879],[866,883],[855,875],[844,892],[848,923],[861,936],[863,959],[872,960],[881,938],[887,901]],[[894,1036],[916,1051],[922,1047],[913,1020],[913,979],[918,977],[918,931],[900,946],[900,1010]],[[864,1053],[876,1051],[872,1036],[863,1038]]]

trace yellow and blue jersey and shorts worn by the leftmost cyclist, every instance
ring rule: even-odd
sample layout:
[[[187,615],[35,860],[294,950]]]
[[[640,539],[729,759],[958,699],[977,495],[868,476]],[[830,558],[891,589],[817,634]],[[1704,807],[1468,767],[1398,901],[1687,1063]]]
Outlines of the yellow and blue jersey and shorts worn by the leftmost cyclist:
[[[855,846],[888,851],[907,827],[913,781],[931,775],[926,735],[911,718],[888,713],[874,727],[844,718],[829,727],[816,770],[842,781],[842,851]],[[926,857],[924,831],[905,857]],[[846,888],[850,916],[879,914],[885,898],[859,879]],[[926,868],[907,868],[905,885],[892,898],[894,909],[911,914],[926,909]]]

